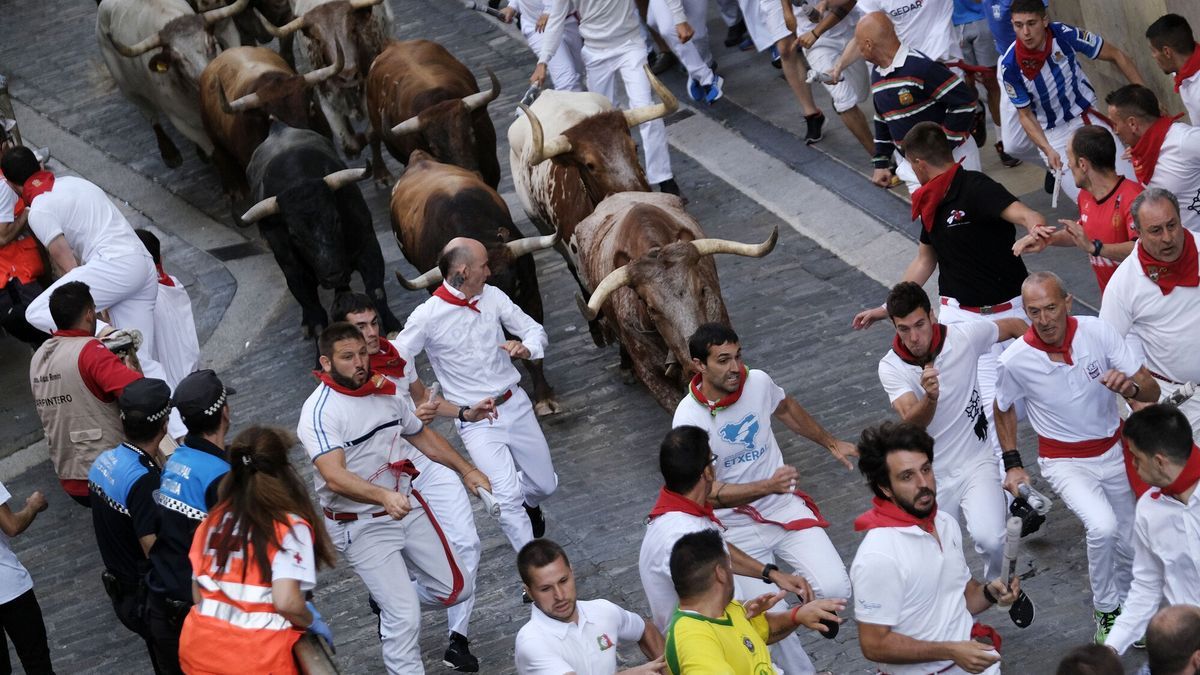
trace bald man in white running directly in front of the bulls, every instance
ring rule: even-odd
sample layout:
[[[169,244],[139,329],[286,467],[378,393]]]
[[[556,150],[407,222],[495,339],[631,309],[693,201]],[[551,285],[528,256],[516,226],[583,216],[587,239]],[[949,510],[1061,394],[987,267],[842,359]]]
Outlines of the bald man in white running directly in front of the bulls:
[[[394,342],[402,354],[430,357],[445,399],[458,406],[458,436],[492,482],[500,530],[520,551],[545,534],[541,502],[558,486],[550,446],[512,365],[542,358],[546,331],[487,285],[487,249],[479,241],[451,239],[438,269],[442,285],[413,310]]]

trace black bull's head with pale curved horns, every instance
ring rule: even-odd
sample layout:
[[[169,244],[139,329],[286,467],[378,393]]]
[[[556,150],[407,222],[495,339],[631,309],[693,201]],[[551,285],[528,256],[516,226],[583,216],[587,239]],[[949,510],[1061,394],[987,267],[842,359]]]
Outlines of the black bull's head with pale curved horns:
[[[300,181],[251,207],[241,216],[242,225],[280,216],[292,249],[300,252],[317,281],[325,288],[343,288],[350,281],[352,261],[346,251],[346,223],[337,191],[370,175],[367,166],[334,172],[320,180]]]

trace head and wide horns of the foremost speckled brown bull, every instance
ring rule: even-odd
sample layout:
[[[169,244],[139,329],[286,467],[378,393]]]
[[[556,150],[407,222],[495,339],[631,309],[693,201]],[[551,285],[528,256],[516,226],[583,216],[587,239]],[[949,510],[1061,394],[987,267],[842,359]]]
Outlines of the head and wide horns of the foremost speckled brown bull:
[[[662,336],[677,364],[690,363],[688,338],[703,323],[727,321],[725,300],[716,279],[716,267],[708,256],[732,253],[761,258],[775,247],[779,228],[761,244],[742,244],[726,239],[696,239],[672,241],[650,249],[642,257],[626,262],[608,273],[584,303],[576,295],[580,310],[593,321],[605,301],[618,289],[629,287],[644,306],[641,318],[649,325],[629,327],[652,329]]]

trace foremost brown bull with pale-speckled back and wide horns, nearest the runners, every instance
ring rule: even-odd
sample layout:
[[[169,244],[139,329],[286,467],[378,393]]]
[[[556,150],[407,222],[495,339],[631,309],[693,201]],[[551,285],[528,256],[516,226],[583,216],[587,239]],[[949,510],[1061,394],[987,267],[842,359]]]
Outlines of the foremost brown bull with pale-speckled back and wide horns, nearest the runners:
[[[600,202],[575,238],[592,289],[580,309],[588,321],[602,316],[605,339],[620,344],[622,371],[673,411],[688,382],[688,338],[703,323],[730,322],[712,256],[760,258],[779,229],[762,244],[709,239],[678,197],[623,192]]]

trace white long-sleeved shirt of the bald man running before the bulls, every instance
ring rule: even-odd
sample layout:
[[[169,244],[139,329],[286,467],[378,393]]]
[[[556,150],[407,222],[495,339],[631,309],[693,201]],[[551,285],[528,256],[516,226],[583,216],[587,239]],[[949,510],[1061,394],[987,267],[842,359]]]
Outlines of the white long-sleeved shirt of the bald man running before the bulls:
[[[462,297],[450,286],[443,287]],[[503,291],[485,285],[478,301],[476,312],[431,297],[408,315],[395,340],[402,354],[415,356],[422,350],[428,354],[446,400],[458,406],[503,394],[521,382],[512,359],[500,348],[508,340],[505,329],[521,339],[532,360],[546,352],[546,330]]]

